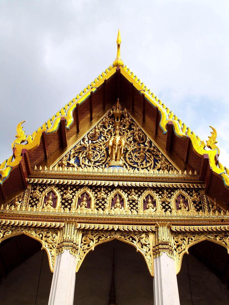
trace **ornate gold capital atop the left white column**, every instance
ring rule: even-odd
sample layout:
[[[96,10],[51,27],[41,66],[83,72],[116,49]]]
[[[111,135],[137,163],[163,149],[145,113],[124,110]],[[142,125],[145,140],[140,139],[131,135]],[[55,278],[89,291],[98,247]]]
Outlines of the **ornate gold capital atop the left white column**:
[[[78,252],[79,230],[76,228],[76,222],[67,220],[64,222],[64,227],[60,230],[60,236],[56,248],[56,254],[61,254],[64,250],[77,257]]]

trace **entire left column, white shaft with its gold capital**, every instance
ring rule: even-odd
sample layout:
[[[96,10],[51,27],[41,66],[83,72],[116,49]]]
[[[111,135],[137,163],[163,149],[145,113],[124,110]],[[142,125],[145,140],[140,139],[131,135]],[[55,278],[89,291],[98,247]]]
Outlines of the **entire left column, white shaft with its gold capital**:
[[[74,222],[67,222],[61,228],[49,305],[73,305],[79,236]]]

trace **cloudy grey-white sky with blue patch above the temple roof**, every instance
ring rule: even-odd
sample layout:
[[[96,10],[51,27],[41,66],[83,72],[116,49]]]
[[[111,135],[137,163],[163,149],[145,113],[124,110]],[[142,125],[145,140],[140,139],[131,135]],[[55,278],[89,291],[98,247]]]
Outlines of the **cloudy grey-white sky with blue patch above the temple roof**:
[[[229,167],[229,1],[0,1],[0,163],[116,57]]]

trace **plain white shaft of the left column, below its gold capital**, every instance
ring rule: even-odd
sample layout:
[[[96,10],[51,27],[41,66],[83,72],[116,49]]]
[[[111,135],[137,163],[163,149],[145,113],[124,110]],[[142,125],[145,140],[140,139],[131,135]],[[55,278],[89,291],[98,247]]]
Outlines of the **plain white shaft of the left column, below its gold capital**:
[[[69,250],[56,256],[49,305],[73,305],[77,258]]]

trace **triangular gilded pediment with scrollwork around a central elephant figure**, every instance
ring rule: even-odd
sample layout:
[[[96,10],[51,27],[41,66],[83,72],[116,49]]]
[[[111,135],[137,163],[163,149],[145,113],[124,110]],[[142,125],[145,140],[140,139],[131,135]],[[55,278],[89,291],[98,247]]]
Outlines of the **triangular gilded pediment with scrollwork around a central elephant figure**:
[[[52,169],[171,173],[176,170],[126,108],[113,106],[80,141],[64,153]]]

